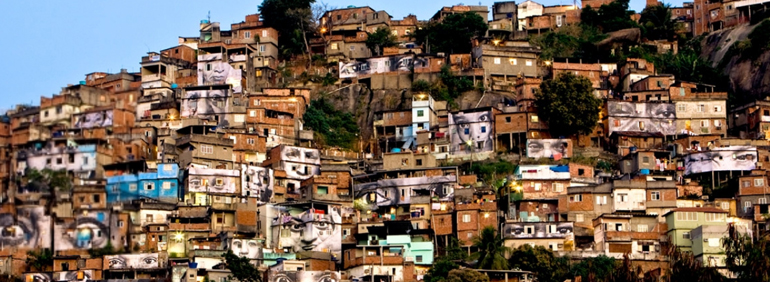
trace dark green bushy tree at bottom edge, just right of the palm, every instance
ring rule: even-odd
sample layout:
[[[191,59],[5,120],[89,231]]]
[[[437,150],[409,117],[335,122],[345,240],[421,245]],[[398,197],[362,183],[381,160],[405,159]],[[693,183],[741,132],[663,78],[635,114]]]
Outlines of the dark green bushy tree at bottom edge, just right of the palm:
[[[567,259],[543,246],[524,244],[513,250],[508,262],[512,268],[532,271],[540,282],[561,282],[567,276]]]

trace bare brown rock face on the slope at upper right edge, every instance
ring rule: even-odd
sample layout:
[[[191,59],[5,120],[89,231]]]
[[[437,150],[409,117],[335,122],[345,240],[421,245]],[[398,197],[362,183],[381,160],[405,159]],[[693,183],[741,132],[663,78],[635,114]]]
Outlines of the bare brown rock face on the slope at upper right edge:
[[[733,93],[746,100],[761,99],[770,93],[770,52],[764,52],[756,60],[725,56],[733,44],[746,40],[755,26],[720,30],[709,34],[701,43],[701,56],[711,61],[714,67],[723,63],[722,71],[728,76]]]

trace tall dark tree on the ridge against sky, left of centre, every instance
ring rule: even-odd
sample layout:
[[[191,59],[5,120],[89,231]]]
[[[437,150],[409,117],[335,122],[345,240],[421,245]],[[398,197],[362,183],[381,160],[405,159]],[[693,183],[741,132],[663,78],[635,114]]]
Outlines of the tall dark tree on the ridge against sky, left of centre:
[[[265,26],[278,30],[278,46],[286,57],[301,54],[305,49],[304,34],[312,26],[310,4],[315,0],[265,0],[259,14]]]

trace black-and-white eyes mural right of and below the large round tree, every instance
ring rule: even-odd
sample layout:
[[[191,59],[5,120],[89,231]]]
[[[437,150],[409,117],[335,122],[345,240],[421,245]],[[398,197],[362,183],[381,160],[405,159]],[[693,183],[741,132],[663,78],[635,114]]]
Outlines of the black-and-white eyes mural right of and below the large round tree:
[[[610,134],[615,131],[676,134],[676,105],[607,102]]]

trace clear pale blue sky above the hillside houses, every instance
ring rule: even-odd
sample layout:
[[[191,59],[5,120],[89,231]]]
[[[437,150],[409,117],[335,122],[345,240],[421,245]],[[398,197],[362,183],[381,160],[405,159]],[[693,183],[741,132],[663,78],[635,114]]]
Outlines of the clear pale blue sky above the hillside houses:
[[[572,4],[571,0],[535,0],[544,5]],[[385,10],[394,19],[415,14],[428,19],[447,0],[343,1],[326,0],[330,6],[370,6]],[[463,2],[491,6],[494,1]],[[524,2],[524,1],[517,1]],[[6,67],[0,69],[0,112],[19,103],[39,104],[40,96],[58,93],[67,84],[84,80],[91,72],[139,70],[141,57],[177,45],[179,36],[197,36],[200,20],[223,28],[257,13],[261,1],[227,0],[131,0],[131,1],[0,1],[0,53]],[[578,1],[579,3],[579,1]],[[641,11],[643,0],[631,0]],[[681,5],[681,0],[671,2]],[[491,10],[491,8],[490,8]]]

